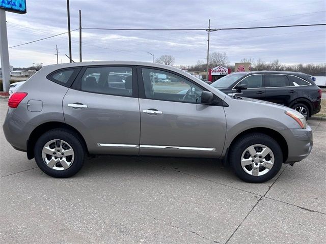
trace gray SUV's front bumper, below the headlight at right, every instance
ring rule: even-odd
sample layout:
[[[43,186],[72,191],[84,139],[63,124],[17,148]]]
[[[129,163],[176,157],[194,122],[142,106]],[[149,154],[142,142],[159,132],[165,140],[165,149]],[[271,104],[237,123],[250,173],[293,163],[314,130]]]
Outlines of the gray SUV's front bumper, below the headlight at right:
[[[304,160],[311,152],[313,134],[310,126],[306,129],[289,129],[288,158],[285,163]]]

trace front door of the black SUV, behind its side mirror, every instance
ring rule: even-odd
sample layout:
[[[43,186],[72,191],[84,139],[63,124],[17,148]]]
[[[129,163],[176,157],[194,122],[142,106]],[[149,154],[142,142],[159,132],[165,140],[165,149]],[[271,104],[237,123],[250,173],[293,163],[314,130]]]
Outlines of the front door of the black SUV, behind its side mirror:
[[[248,89],[241,90],[241,93],[234,92],[237,96],[264,100],[265,87],[262,74],[253,74],[243,78],[235,85],[234,89],[236,90],[236,86],[240,84],[247,85]]]

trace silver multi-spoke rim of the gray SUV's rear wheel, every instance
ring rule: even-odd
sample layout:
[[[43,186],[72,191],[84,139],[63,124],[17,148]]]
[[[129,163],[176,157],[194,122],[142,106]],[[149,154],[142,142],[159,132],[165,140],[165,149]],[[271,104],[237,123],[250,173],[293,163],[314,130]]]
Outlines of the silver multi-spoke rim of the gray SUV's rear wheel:
[[[64,140],[50,140],[43,146],[43,162],[51,169],[66,170],[70,168],[74,158],[75,154],[71,145]]]

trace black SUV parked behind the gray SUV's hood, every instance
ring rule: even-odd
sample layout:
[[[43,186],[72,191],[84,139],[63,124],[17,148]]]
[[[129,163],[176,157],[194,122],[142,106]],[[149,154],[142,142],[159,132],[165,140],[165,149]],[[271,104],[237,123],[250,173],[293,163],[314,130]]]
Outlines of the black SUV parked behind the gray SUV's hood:
[[[309,75],[287,71],[237,72],[211,84],[228,95],[283,104],[306,119],[320,111],[321,89]]]

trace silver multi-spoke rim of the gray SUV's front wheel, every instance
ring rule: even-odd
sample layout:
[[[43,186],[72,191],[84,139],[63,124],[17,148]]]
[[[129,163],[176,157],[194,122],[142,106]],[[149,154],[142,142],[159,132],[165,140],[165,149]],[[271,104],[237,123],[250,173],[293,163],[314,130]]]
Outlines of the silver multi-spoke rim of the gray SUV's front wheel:
[[[254,144],[247,147],[241,155],[241,167],[247,174],[261,176],[274,166],[273,151],[265,145]]]

